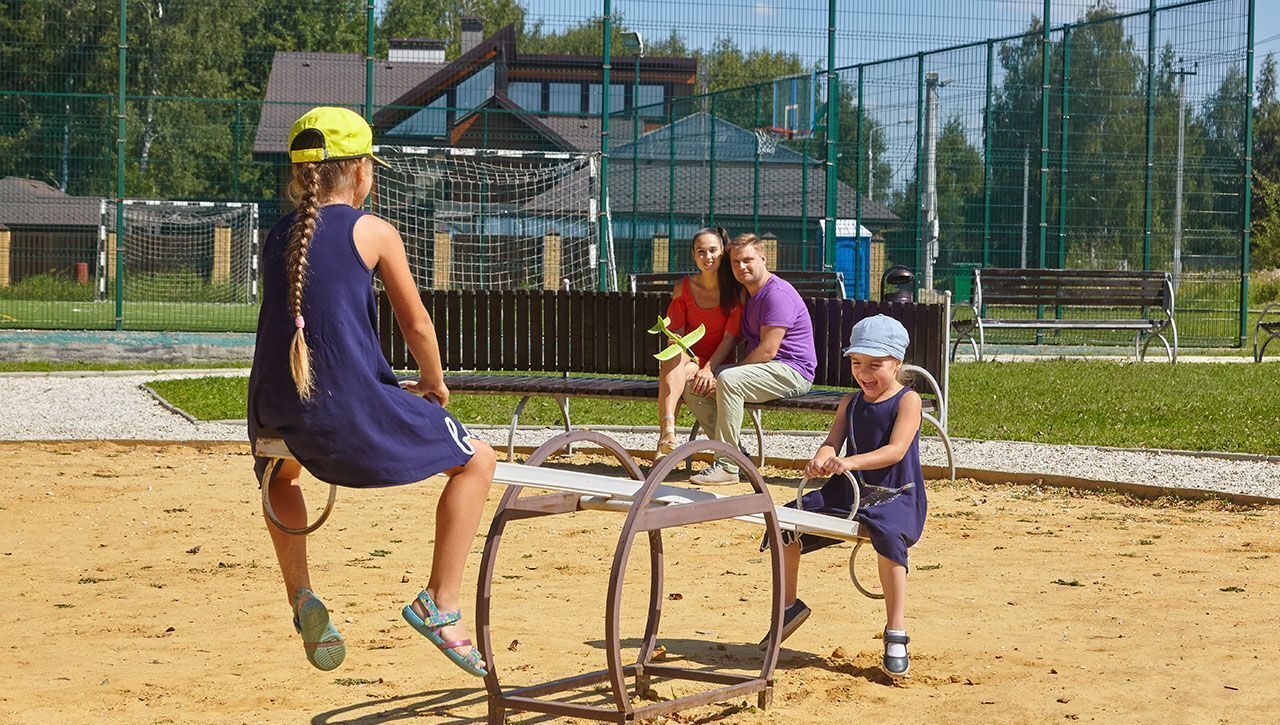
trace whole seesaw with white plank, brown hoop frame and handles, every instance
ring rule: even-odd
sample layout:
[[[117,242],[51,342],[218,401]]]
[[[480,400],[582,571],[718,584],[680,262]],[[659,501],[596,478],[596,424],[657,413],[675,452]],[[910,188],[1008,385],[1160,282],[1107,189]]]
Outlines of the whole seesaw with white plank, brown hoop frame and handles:
[[[552,455],[572,443],[593,443],[614,456],[630,478],[588,474],[564,469],[540,468]],[[741,469],[751,493],[721,496],[708,491],[669,485],[663,483],[668,475],[686,459],[695,453],[709,452],[733,459]],[[317,520],[303,528],[288,528],[280,524],[270,507],[268,484],[279,465],[292,459],[283,441],[260,439],[255,455],[271,459],[262,480],[262,507],[268,519],[284,532],[305,534],[314,532],[329,516],[335,498],[335,487],[330,488],[325,510]],[[631,455],[617,441],[591,430],[562,433],[543,443],[524,464],[499,462],[494,473],[494,483],[504,484],[503,493],[494,512],[489,534],[485,541],[480,562],[480,576],[476,593],[476,630],[479,647],[489,664],[485,688],[489,692],[489,722],[506,721],[506,711],[540,712],[553,716],[581,717],[605,722],[632,722],[669,715],[680,710],[724,702],[728,699],[755,694],[760,708],[769,706],[773,698],[773,670],[778,657],[778,633],[782,625],[782,532],[812,533],[842,541],[855,542],[849,560],[849,570],[854,585],[869,597],[879,597],[861,585],[854,573],[858,551],[867,541],[859,535],[858,523],[800,511],[773,505],[768,488],[755,465],[741,451],[714,441],[691,441],[662,459],[648,475],[644,475]],[[808,480],[800,482],[797,498],[804,493]],[[549,493],[524,494],[525,489],[549,491]],[[854,491],[858,491],[856,484]],[[856,500],[854,510],[856,510]],[[490,628],[490,603],[493,598],[493,578],[497,569],[498,550],[503,533],[512,521],[572,514],[576,511],[614,511],[625,514],[622,529],[613,553],[609,570],[608,593],[604,611],[604,653],[605,669],[547,683],[504,689],[500,681],[500,655],[493,647]],[[769,565],[772,592],[769,598],[769,634],[759,674],[723,672],[713,669],[681,667],[653,660],[658,644],[658,626],[662,619],[663,592],[663,544],[662,529],[717,520],[739,520],[764,526],[769,542]],[[622,658],[622,583],[631,546],[640,534],[649,538],[649,611],[644,637],[634,662]],[[708,689],[694,694],[658,702],[634,703],[628,692],[627,679],[635,679],[635,693],[649,692],[652,678],[669,678],[704,683]],[[548,696],[575,690],[600,683],[608,683],[612,703],[608,706],[584,705],[549,699]]]

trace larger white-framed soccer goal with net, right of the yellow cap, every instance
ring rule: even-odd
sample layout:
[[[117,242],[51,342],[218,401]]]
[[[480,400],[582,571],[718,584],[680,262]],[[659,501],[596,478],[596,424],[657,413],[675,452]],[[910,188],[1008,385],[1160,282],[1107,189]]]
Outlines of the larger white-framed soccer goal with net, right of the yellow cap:
[[[399,229],[420,287],[598,288],[608,224],[599,156],[498,149],[380,146],[372,209]]]

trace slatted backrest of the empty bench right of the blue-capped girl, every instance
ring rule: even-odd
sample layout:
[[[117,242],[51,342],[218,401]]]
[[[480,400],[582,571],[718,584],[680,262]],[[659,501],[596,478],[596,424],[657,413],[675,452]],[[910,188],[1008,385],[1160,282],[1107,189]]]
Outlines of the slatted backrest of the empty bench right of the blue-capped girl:
[[[1172,310],[1167,272],[975,269],[974,306],[1157,307]]]

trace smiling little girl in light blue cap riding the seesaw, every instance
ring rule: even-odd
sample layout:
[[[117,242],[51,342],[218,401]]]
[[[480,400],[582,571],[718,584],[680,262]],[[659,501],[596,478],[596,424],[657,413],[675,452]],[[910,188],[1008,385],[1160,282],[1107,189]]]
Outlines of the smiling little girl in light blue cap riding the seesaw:
[[[897,379],[909,338],[893,318],[876,315],[854,325],[845,355],[859,391],[840,402],[827,439],[804,469],[805,478],[831,477],[818,491],[806,493],[805,511],[849,516],[854,471],[861,505],[854,515],[859,533],[876,548],[884,591],[884,657],[882,667],[893,678],[906,675],[906,551],[924,528],[924,477],[920,473],[920,396]],[[838,455],[845,446],[845,456]],[[787,506],[795,507],[795,502]],[[796,596],[800,555],[841,543],[813,534],[783,535],[786,639],[809,617]]]

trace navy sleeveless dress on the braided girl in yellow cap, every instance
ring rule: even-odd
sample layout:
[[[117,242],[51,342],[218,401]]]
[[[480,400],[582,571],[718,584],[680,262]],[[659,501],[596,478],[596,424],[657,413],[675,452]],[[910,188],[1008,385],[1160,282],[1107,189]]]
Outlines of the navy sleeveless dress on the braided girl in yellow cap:
[[[293,315],[284,248],[289,214],[262,245],[262,309],[248,378],[248,437],[284,439],[298,462],[326,483],[398,485],[471,460],[470,433],[438,403],[401,389],[378,343],[372,270],[352,231],[364,211],[320,210],[307,254],[302,316],[315,391],[303,402],[289,375]],[[266,461],[255,466],[261,480]]]

